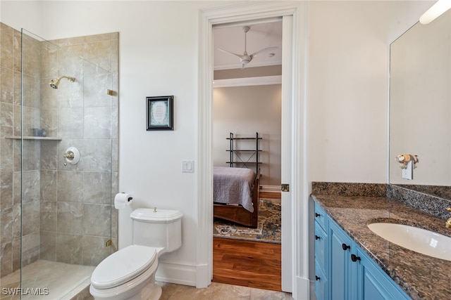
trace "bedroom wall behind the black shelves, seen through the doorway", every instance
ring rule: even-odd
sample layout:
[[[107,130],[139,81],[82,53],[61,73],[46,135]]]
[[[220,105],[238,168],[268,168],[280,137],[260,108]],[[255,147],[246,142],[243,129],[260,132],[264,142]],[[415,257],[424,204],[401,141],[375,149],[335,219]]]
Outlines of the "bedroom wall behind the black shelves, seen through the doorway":
[[[213,91],[213,164],[229,167],[232,132],[236,137],[252,138],[258,132],[261,185],[280,185],[281,85],[233,86]],[[235,150],[254,150],[255,141],[235,141]],[[254,152],[237,153],[244,162],[255,162]],[[235,162],[240,162],[236,156]],[[236,167],[240,167],[237,164]],[[255,170],[255,164],[248,164]]]

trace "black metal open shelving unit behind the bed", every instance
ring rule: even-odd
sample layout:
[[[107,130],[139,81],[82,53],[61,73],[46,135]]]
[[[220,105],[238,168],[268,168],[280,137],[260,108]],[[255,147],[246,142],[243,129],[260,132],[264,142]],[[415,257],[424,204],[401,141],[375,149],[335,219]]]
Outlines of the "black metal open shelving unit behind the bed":
[[[230,146],[227,150],[230,152],[230,161],[226,162],[227,164],[230,164],[230,167],[242,167],[242,168],[248,168],[251,169],[249,166],[255,165],[255,173],[258,173],[259,171],[259,164],[261,162],[259,161],[259,152],[260,150],[260,141],[263,139],[259,136],[259,133],[255,133],[254,138],[235,138],[233,136],[233,133],[230,132],[230,137],[227,138],[230,140]],[[249,148],[238,148],[237,143],[239,141],[255,141],[255,148],[249,149]],[[249,143],[248,145],[249,146]],[[246,153],[246,157],[244,157],[244,153]]]

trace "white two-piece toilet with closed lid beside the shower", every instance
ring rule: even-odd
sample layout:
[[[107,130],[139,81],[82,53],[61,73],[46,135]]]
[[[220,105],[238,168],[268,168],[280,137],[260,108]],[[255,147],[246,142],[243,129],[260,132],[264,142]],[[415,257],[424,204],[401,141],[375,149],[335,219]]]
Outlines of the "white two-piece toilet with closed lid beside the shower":
[[[95,268],[89,287],[94,299],[159,299],[161,287],[155,283],[159,256],[182,245],[182,216],[176,210],[135,209],[130,214],[133,244]]]

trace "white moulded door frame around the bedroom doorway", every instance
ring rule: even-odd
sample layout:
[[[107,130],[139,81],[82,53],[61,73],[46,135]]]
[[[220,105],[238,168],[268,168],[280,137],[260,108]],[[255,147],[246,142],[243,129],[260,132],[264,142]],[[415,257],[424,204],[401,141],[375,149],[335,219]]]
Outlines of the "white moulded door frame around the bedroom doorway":
[[[309,294],[308,265],[308,184],[304,176],[306,165],[304,149],[305,86],[307,67],[307,4],[301,2],[253,2],[222,8],[206,8],[201,12],[199,25],[199,103],[198,103],[198,172],[197,211],[199,235],[197,239],[197,287],[210,284],[213,273],[213,26],[232,22],[245,22],[265,18],[283,18],[283,136],[290,146],[284,148],[283,157],[291,159],[282,174],[283,183],[290,184],[290,192],[282,193],[287,211],[286,227],[282,237],[282,289]],[[286,44],[286,46],[285,46]],[[286,51],[286,53],[285,53]],[[288,63],[285,63],[285,59]],[[287,84],[285,84],[285,81]],[[285,101],[285,98],[287,99]],[[302,119],[300,119],[302,118]],[[285,134],[288,133],[288,134]],[[283,138],[282,144],[285,143]],[[286,150],[286,151],[285,151]],[[288,159],[282,159],[289,162]],[[285,174],[286,173],[286,174]],[[285,197],[285,200],[284,200]],[[284,216],[284,213],[283,213]],[[284,220],[284,217],[283,217]],[[284,221],[283,221],[284,222]]]

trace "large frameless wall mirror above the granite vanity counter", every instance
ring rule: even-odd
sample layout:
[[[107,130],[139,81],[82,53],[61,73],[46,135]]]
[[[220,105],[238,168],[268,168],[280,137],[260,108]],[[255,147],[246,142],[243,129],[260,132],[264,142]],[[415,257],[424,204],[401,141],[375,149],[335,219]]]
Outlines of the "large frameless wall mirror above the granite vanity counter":
[[[418,155],[413,179],[397,155]],[[451,12],[419,22],[390,45],[389,183],[451,185]],[[435,188],[437,190],[437,188]]]

